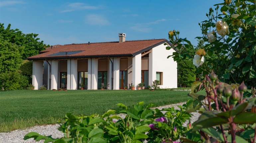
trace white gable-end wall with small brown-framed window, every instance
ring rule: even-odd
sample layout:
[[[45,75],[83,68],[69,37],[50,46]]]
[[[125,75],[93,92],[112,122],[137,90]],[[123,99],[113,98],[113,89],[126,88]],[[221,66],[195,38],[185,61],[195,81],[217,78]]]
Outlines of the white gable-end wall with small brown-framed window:
[[[166,50],[164,44],[152,49],[149,54],[149,85],[156,80],[156,72],[163,72],[163,85],[160,88],[177,88],[177,62],[173,58],[167,58],[173,52],[173,49]]]

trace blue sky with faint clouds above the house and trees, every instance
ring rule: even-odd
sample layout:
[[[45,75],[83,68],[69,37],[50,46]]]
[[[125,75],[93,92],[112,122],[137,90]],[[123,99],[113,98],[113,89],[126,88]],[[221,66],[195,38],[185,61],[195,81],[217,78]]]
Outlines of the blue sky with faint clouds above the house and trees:
[[[118,33],[126,33],[126,40],[168,39],[174,29],[197,45],[198,22],[206,20],[209,8],[221,2],[0,0],[0,23],[39,34],[50,45],[118,41]]]

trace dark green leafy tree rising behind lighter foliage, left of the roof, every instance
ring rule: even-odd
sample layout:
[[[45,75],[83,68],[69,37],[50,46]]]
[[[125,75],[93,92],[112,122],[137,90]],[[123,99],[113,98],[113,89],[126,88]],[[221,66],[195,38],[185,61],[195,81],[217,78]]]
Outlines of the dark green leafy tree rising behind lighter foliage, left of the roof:
[[[24,34],[19,29],[11,29],[11,24],[4,29],[4,24],[0,23],[0,36],[8,42],[15,43],[18,46],[23,46],[22,59],[39,54],[39,51],[45,50],[50,45],[44,44],[44,41],[39,41],[38,34]]]

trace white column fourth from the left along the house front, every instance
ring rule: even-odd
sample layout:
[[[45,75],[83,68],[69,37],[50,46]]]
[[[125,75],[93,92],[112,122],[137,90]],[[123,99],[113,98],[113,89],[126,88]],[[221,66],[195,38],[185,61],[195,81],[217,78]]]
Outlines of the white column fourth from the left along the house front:
[[[98,84],[98,59],[91,59],[91,89],[97,90]]]

